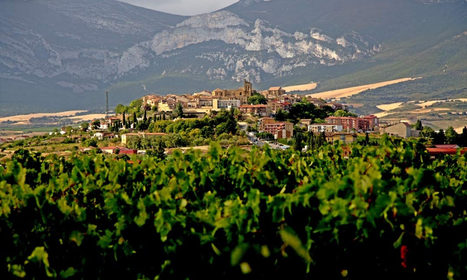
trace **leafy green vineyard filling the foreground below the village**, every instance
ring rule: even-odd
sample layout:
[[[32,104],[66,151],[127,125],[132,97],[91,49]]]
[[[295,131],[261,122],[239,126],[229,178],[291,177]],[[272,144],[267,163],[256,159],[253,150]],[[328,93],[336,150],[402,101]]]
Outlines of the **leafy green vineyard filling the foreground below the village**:
[[[467,155],[212,144],[0,165],[0,279],[466,279]]]

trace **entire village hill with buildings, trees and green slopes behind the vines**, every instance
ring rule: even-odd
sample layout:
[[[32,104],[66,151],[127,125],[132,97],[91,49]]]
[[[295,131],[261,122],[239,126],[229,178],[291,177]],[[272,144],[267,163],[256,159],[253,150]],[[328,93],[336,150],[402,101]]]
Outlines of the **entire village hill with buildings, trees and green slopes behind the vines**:
[[[348,144],[377,146],[383,133],[420,137],[428,149],[435,149],[430,151],[435,155],[455,154],[458,147],[467,145],[467,128],[461,134],[452,127],[446,133],[435,132],[423,127],[418,119],[388,123],[375,115],[357,116],[348,109],[345,104],[288,94],[280,86],[256,91],[244,81],[238,89],[146,95],[129,105],[117,105],[115,114],[104,119],[63,126],[46,135],[0,137],[0,147],[4,153],[27,147],[30,151],[63,155],[97,149],[129,159],[133,154],[162,158],[176,148],[206,150],[212,141],[223,147],[250,149],[268,143],[271,148],[298,151],[337,141],[348,156]]]

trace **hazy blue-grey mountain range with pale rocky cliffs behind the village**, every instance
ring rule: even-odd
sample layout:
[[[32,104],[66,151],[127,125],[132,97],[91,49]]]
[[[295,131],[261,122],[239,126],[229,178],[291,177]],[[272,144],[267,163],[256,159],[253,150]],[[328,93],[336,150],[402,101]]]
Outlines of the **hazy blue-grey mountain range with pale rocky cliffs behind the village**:
[[[462,95],[466,31],[466,0],[241,0],[192,17],[115,0],[3,0],[0,115],[243,79],[257,89],[314,81],[316,92],[448,75]]]

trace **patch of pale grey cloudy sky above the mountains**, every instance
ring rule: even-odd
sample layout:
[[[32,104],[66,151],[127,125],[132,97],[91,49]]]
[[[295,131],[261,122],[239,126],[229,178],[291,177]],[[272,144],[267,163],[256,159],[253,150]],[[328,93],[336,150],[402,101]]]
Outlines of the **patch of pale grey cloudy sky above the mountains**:
[[[238,0],[120,0],[170,14],[195,15],[227,7]]]

